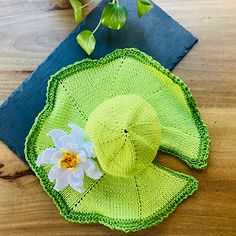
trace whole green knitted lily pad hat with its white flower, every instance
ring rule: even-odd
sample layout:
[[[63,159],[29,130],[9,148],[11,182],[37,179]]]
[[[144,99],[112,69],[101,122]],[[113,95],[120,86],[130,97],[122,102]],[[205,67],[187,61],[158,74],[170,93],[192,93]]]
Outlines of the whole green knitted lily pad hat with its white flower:
[[[160,223],[198,186],[153,161],[157,151],[203,169],[209,146],[183,81],[123,49],[52,76],[25,155],[67,220],[137,231]]]

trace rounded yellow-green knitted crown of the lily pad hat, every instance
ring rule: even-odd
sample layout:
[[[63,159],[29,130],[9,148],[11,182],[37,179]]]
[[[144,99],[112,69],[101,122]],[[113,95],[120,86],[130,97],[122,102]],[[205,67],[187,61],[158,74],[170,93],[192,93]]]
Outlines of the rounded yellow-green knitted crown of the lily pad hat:
[[[88,118],[86,131],[98,162],[111,175],[145,171],[160,145],[157,113],[137,95],[116,96],[98,105]]]

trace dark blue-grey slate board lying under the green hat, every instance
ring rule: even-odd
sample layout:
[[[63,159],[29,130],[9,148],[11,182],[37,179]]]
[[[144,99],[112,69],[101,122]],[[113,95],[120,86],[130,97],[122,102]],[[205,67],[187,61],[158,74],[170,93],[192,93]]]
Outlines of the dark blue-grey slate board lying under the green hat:
[[[77,44],[76,36],[81,30],[95,28],[106,2],[102,1],[0,107],[0,139],[23,161],[25,138],[45,104],[50,76],[88,57]],[[103,57],[117,48],[135,47],[171,70],[197,42],[158,6],[138,18],[136,0],[120,0],[120,4],[127,6],[126,25],[120,31],[101,26],[95,34],[97,46],[90,58]]]

